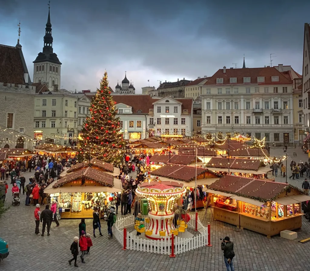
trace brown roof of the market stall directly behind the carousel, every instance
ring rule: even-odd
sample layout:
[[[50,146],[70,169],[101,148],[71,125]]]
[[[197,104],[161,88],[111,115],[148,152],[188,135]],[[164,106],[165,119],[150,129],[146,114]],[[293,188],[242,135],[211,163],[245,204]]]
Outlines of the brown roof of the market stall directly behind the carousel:
[[[208,169],[197,168],[197,176],[208,172],[216,177],[221,177],[220,174],[216,174]],[[181,166],[181,165],[172,165],[167,164],[157,170],[151,172],[151,175],[167,177],[170,179],[176,179],[181,181],[191,181],[196,177],[196,170],[194,166]]]

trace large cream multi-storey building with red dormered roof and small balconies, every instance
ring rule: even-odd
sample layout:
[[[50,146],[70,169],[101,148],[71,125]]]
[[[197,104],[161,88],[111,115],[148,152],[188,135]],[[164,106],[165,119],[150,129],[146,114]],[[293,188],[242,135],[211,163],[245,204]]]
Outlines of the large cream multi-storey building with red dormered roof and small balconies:
[[[201,96],[202,134],[293,144],[293,84],[274,67],[218,70]]]

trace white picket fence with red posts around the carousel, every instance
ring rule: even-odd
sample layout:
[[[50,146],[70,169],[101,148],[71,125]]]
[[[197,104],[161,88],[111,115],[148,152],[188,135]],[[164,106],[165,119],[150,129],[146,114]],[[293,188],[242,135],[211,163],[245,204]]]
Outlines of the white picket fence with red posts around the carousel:
[[[130,216],[117,219],[117,221],[113,225],[113,235],[115,236],[117,241],[123,246],[123,248],[165,255],[170,255],[172,253],[172,240],[170,240],[170,238],[160,240],[145,240],[134,234],[129,234],[127,231],[126,245],[124,246],[124,228],[131,225],[133,226],[134,223],[135,217]],[[188,227],[195,229],[195,214],[191,216],[191,219],[188,222]],[[187,252],[198,247],[204,247],[208,244],[208,229],[202,225],[199,217],[197,219],[197,230],[199,234],[193,236],[192,238],[180,238],[178,236],[175,236],[173,246],[175,254]]]

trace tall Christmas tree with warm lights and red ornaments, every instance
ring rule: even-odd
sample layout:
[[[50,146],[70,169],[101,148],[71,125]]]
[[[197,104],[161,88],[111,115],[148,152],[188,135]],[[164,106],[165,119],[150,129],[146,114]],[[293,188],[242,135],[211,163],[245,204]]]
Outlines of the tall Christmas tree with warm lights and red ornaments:
[[[82,149],[85,154],[91,152],[91,158],[106,162],[119,162],[124,146],[123,135],[120,133],[120,120],[116,117],[116,102],[110,95],[108,73],[100,81],[100,89],[91,101],[91,117],[86,118],[83,128]]]

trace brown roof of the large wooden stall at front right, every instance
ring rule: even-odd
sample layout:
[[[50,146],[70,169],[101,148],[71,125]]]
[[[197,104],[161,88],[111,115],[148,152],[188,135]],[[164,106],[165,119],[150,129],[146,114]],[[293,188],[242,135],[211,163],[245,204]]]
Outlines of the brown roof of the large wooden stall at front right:
[[[212,183],[209,189],[269,201],[276,199],[287,186],[292,187],[286,183],[226,175]]]

